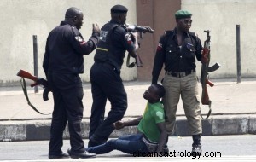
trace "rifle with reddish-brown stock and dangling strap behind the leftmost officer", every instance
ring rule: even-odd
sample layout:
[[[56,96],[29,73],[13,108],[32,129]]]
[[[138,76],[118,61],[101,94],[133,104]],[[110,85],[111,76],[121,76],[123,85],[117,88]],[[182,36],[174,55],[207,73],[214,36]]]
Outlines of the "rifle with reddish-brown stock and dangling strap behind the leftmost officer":
[[[18,73],[17,73],[17,76],[21,77],[20,79],[20,84],[22,86],[22,90],[24,92],[24,95],[26,97],[26,101],[27,101],[27,104],[32,107],[33,110],[35,110],[36,112],[40,113],[40,114],[43,114],[43,115],[48,115],[50,113],[41,113],[38,111],[38,109],[36,107],[34,107],[32,105],[32,103],[29,101],[29,98],[28,98],[28,95],[27,95],[27,90],[26,90],[26,82],[25,82],[25,79],[24,78],[28,78],[30,80],[33,80],[35,83],[31,84],[30,86],[31,87],[34,87],[36,85],[43,85],[44,86],[44,92],[43,92],[43,100],[44,101],[47,101],[49,100],[48,98],[48,94],[49,94],[49,85],[48,85],[48,82],[44,79],[44,78],[38,78],[36,76],[33,76],[31,73],[29,72],[26,72],[24,70],[20,70]]]

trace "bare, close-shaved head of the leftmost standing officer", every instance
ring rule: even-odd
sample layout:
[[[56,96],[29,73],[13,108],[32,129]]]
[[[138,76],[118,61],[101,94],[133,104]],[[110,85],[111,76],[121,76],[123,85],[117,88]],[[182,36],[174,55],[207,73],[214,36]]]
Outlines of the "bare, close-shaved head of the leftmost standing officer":
[[[80,29],[83,26],[84,14],[80,9],[69,8],[65,14],[65,21],[70,23],[73,26],[76,26],[77,29]]]

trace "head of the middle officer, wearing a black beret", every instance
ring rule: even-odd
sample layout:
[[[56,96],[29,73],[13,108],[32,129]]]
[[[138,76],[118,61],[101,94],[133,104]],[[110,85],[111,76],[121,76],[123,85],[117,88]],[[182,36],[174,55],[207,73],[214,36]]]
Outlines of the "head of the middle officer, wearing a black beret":
[[[117,20],[120,24],[124,25],[126,21],[126,16],[128,9],[122,5],[115,5],[110,9],[111,18],[113,20]]]

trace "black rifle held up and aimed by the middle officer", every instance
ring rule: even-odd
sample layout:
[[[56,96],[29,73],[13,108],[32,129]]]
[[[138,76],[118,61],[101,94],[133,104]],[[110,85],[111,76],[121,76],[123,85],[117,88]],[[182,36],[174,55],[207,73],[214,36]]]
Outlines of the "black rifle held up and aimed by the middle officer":
[[[145,32],[149,32],[149,33],[153,33],[154,30],[149,27],[149,26],[130,26],[128,24],[125,25],[126,31],[127,32],[139,32],[140,33],[140,38],[144,38],[144,33]],[[140,47],[140,43],[139,47]],[[137,57],[135,58],[135,62],[130,63],[130,57],[131,55],[128,54],[127,56],[127,60],[126,60],[126,67],[135,67],[135,65],[137,65],[137,67],[143,67],[143,61],[141,60],[140,56],[137,55]]]

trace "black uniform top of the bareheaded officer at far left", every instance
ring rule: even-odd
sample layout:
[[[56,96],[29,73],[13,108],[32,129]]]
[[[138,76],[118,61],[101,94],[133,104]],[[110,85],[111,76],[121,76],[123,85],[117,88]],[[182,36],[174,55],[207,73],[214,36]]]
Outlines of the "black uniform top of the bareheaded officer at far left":
[[[89,55],[98,43],[98,33],[93,33],[85,42],[79,30],[66,21],[61,21],[47,38],[44,54],[44,72],[83,73],[84,57]]]

